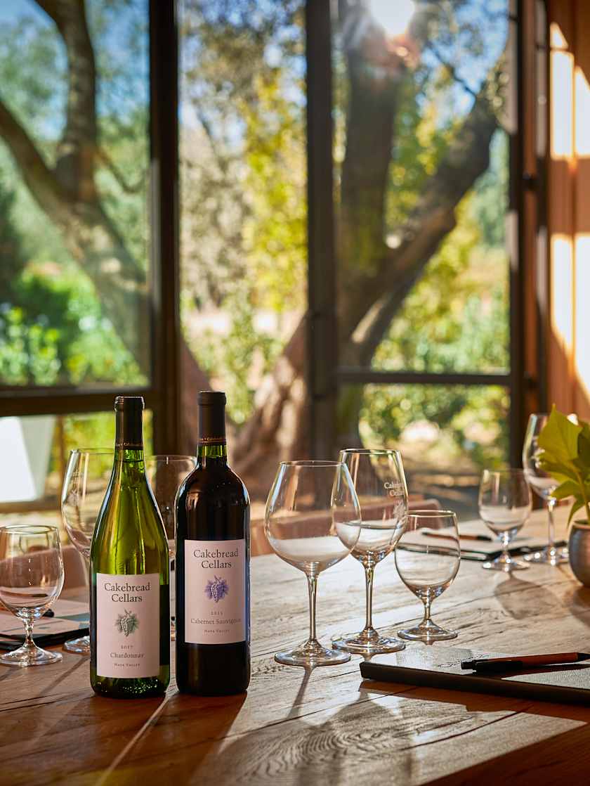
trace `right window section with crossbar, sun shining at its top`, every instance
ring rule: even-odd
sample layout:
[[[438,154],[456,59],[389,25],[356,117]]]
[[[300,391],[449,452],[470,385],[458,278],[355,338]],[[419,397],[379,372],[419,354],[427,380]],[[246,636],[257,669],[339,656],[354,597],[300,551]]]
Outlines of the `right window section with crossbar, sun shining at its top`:
[[[470,516],[508,461],[508,3],[337,8],[337,441]]]

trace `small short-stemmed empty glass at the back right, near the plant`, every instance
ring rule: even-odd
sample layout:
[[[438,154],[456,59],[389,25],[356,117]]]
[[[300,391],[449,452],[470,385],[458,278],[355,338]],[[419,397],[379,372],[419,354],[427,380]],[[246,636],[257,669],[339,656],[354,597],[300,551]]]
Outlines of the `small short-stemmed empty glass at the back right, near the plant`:
[[[493,472],[484,469],[479,483],[479,516],[486,526],[500,538],[502,553],[495,560],[484,562],[488,571],[522,571],[529,567],[514,560],[508,545],[530,516],[530,488],[522,469],[504,469]]]

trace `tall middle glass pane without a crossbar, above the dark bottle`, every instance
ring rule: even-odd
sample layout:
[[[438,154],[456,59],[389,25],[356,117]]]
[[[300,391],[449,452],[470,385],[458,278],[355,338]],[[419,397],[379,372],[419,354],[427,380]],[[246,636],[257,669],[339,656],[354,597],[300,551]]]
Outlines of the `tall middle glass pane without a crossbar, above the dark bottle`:
[[[227,392],[254,517],[277,461],[297,449],[305,399],[303,8],[180,4],[184,386]]]

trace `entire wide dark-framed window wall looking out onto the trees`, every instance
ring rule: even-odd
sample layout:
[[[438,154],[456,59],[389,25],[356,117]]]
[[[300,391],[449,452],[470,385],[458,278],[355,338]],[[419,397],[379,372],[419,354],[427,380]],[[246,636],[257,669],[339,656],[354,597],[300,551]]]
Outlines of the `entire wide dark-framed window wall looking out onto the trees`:
[[[186,453],[218,387],[255,517],[278,461],[355,443],[473,512],[530,375],[515,7],[76,8],[0,9],[1,414],[125,389]]]

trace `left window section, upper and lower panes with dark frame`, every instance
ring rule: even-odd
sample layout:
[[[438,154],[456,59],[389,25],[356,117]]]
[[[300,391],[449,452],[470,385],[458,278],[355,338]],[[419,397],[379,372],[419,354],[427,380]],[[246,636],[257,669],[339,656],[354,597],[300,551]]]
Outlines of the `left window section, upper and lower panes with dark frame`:
[[[150,3],[46,8],[0,8],[0,433],[22,481],[2,487],[2,512],[55,509],[68,450],[112,443],[116,393],[145,395],[160,450],[173,409],[158,230],[174,221],[152,178],[155,105],[167,110]],[[152,196],[164,208],[150,221]],[[150,434],[148,418],[148,446]]]

